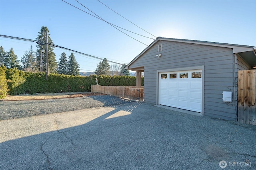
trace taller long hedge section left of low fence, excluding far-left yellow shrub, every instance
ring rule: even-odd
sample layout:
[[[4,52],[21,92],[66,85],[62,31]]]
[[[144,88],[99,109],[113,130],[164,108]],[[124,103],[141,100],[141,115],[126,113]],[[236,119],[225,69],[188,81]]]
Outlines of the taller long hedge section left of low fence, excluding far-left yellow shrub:
[[[56,93],[56,92],[90,92],[91,85],[96,85],[96,75],[70,76],[49,74],[46,80],[44,72],[32,73],[11,68],[6,70],[10,95]]]

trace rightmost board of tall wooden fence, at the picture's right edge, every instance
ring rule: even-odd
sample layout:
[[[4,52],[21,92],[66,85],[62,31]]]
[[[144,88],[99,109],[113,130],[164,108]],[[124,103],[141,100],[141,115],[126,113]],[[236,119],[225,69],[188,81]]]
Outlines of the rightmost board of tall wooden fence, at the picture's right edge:
[[[250,70],[250,124],[256,125],[256,70]]]

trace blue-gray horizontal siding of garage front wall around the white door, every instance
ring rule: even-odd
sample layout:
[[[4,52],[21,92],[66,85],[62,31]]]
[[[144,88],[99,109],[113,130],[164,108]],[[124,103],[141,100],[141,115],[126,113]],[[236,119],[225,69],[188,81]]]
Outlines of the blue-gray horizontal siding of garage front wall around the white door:
[[[162,51],[158,52],[158,44]],[[157,70],[204,65],[204,114],[236,119],[236,106],[222,102],[222,92],[233,86],[233,51],[223,47],[160,41],[129,68],[144,66],[144,100],[156,104]],[[162,54],[160,58],[157,54]]]

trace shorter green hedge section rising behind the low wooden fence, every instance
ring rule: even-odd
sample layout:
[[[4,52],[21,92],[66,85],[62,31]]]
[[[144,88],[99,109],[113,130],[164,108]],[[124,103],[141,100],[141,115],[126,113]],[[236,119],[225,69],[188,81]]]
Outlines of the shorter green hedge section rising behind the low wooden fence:
[[[98,84],[101,86],[136,86],[136,77],[134,76],[98,76]],[[144,86],[144,77],[142,77],[142,86]]]

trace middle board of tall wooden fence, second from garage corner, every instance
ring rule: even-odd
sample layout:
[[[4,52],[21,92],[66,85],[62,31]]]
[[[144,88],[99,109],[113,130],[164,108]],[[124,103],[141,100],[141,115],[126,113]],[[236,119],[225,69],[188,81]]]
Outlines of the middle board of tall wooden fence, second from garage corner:
[[[250,123],[250,70],[244,70],[244,123]]]

